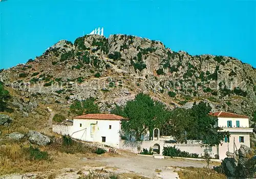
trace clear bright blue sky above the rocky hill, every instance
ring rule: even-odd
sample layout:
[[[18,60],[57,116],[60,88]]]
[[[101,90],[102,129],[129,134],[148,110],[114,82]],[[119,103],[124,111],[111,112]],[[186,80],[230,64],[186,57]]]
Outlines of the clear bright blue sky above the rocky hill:
[[[256,1],[7,0],[0,11],[0,69],[99,26],[106,37],[136,35],[174,51],[232,56],[256,67]]]

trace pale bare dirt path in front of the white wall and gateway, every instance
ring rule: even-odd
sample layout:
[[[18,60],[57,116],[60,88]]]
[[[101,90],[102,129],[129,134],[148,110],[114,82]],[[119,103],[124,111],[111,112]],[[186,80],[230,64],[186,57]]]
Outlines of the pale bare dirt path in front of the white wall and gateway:
[[[106,166],[116,167],[123,172],[134,172],[148,178],[179,178],[174,172],[175,167],[205,167],[203,161],[192,161],[183,159],[155,159],[152,156],[120,156],[102,158],[98,160]]]

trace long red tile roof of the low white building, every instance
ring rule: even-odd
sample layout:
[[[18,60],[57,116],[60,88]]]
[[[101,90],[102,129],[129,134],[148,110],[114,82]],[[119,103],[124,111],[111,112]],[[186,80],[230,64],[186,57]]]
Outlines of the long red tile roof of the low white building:
[[[76,116],[74,119],[98,119],[98,120],[127,120],[121,116],[113,114],[87,114],[82,116]]]

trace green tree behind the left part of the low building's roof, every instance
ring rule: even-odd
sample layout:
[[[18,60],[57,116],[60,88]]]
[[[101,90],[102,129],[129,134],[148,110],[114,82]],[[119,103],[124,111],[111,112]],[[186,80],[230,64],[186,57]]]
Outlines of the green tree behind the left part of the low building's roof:
[[[92,97],[82,101],[75,100],[70,105],[70,111],[76,115],[100,113],[99,107]]]

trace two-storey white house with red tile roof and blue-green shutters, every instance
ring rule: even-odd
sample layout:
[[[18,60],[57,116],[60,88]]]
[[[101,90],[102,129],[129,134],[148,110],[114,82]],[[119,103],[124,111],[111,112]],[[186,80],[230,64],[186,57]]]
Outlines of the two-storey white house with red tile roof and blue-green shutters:
[[[234,152],[239,149],[241,145],[250,147],[250,133],[253,128],[249,127],[249,117],[228,113],[225,111],[217,111],[211,113],[212,116],[218,118],[219,127],[223,128],[221,131],[229,131],[230,136],[223,139],[223,144],[219,146],[220,159],[226,157],[226,152]],[[220,131],[220,132],[221,132]]]

